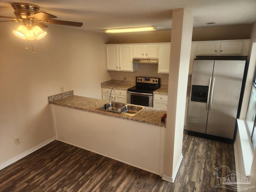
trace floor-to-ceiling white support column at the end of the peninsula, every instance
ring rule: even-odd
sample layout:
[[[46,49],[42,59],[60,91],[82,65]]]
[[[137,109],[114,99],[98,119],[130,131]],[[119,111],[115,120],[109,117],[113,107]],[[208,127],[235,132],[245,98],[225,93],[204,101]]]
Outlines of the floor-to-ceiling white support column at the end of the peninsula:
[[[172,36],[163,180],[174,182],[182,161],[186,92],[194,18],[184,9],[172,11]]]

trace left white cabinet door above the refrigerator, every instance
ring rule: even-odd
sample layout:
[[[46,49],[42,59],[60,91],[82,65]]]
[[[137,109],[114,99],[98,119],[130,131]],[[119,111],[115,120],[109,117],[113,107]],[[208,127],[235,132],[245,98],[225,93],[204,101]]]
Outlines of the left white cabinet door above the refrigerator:
[[[198,43],[198,55],[217,55],[219,53],[220,43]]]

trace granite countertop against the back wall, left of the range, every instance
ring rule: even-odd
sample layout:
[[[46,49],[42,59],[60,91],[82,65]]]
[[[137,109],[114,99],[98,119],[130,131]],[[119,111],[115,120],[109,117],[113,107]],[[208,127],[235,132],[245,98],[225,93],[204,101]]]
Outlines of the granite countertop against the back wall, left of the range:
[[[122,84],[120,84],[121,82],[121,80],[109,80],[102,82],[101,87],[108,89],[112,89],[113,87],[115,87],[116,89],[127,90],[128,88],[131,88],[136,84],[134,81],[124,81],[122,82]]]

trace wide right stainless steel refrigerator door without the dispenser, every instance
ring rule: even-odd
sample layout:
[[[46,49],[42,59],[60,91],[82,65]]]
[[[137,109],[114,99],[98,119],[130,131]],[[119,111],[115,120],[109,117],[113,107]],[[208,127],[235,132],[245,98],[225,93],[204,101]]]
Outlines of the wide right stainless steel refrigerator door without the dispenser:
[[[233,139],[245,61],[215,60],[206,134]]]

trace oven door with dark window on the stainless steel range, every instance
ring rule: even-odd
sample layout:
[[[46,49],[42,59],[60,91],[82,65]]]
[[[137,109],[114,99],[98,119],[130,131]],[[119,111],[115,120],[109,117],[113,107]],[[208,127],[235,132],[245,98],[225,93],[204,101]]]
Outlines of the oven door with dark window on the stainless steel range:
[[[127,103],[142,106],[153,106],[153,94],[151,93],[137,93],[127,92]]]

